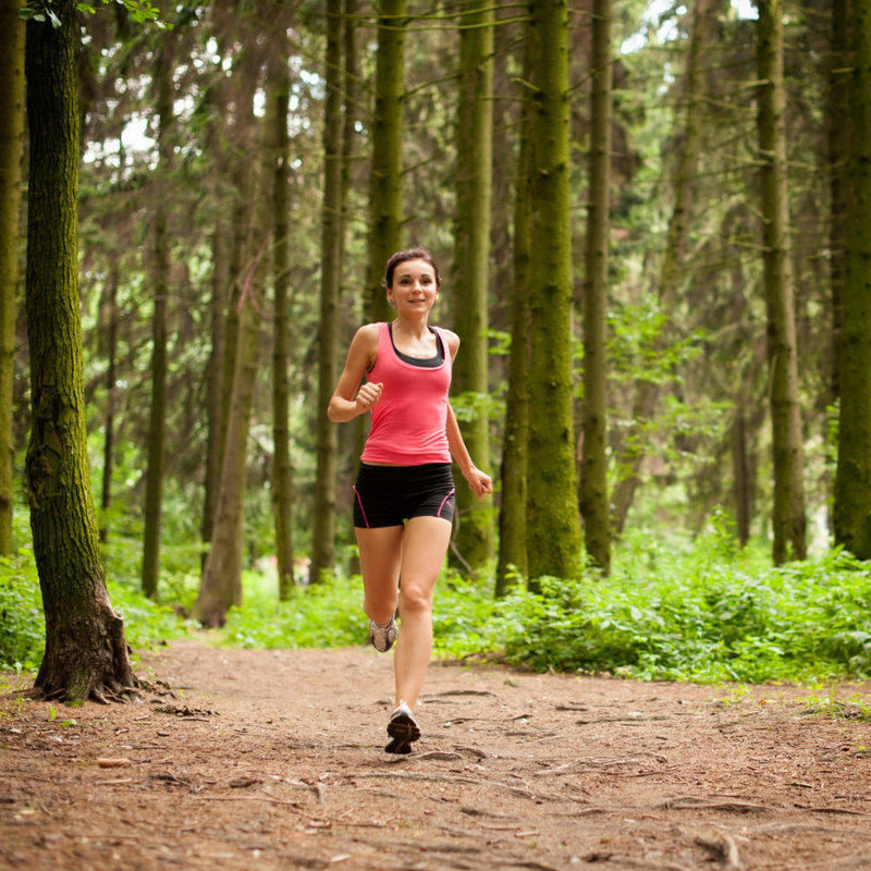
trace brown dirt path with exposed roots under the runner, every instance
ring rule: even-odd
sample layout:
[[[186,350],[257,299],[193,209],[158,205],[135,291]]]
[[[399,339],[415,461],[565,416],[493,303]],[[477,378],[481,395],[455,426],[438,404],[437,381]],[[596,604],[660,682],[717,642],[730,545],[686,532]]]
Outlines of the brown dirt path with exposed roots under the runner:
[[[185,641],[138,670],[174,697],[0,700],[0,868],[871,868],[871,724],[808,690],[434,665],[391,757],[390,655]]]

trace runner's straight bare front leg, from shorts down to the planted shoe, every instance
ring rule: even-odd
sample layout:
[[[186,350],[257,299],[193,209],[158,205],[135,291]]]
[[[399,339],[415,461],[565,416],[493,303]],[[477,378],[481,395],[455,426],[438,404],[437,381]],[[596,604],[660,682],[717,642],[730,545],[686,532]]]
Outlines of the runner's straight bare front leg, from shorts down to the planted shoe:
[[[443,517],[413,517],[402,542],[400,619],[393,667],[396,704],[414,710],[432,653],[432,593],[451,541],[451,523]]]

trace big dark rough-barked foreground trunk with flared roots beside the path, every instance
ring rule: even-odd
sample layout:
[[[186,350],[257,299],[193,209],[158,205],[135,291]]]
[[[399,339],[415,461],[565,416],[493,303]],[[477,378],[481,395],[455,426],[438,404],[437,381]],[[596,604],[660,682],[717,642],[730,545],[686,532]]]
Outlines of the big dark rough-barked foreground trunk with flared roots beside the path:
[[[75,3],[57,0],[60,27],[27,25],[30,167],[27,336],[32,430],[27,496],[46,615],[35,689],[79,701],[135,683],[124,624],[100,562],[85,429],[78,315],[78,114]]]

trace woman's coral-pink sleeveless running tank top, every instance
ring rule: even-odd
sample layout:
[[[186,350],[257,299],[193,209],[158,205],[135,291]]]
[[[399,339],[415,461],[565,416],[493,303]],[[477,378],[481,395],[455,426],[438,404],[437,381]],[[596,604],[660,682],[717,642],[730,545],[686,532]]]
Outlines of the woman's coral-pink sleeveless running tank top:
[[[447,449],[447,390],[451,352],[438,327],[444,360],[439,366],[415,366],[396,355],[387,323],[378,324],[378,354],[367,376],[383,384],[371,409],[372,428],[360,459],[395,466],[450,463]]]

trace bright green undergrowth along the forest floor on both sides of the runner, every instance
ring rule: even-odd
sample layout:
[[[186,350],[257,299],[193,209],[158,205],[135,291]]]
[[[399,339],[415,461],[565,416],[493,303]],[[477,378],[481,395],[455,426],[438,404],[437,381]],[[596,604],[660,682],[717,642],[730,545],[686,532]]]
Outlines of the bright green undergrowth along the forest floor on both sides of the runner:
[[[112,602],[127,640],[144,648],[191,631],[169,605],[142,597],[112,571]],[[196,576],[162,582],[189,606]],[[245,603],[216,642],[248,648],[365,643],[359,578],[298,588],[286,602],[274,578],[246,573]],[[494,601],[487,585],[445,573],[436,594],[436,655],[492,655],[538,671],[608,672],[645,680],[790,682],[822,686],[871,677],[871,565],[841,552],[778,568],[719,532],[667,547],[638,536],[608,578],[542,578],[541,591]],[[39,586],[26,550],[0,561],[0,668],[41,657]]]

